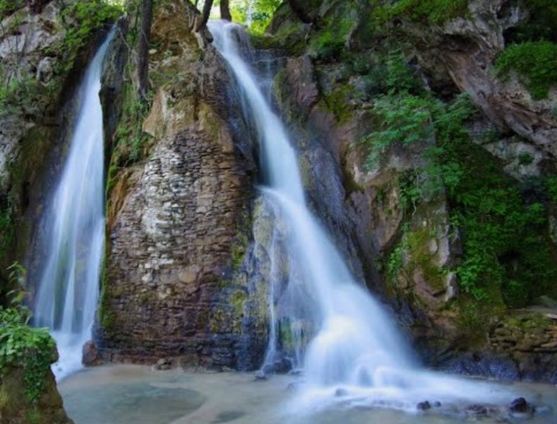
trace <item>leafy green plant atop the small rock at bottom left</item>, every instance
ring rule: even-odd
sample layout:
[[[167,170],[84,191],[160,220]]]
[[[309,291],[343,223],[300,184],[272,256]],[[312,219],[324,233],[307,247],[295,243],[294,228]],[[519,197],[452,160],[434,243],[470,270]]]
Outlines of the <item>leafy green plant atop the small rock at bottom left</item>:
[[[25,270],[17,263],[8,270],[18,289],[8,293],[11,297],[8,307],[0,306],[0,372],[6,372],[8,367],[23,367],[25,395],[36,403],[50,364],[56,360],[56,344],[48,329],[28,325],[31,312],[22,303],[26,293],[20,285]]]

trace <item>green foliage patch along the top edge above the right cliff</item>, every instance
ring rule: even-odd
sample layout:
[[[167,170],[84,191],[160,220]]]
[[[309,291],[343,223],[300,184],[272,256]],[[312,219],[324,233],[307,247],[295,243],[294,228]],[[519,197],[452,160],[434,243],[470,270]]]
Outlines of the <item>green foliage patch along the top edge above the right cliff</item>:
[[[393,0],[384,3],[373,13],[381,23],[405,17],[416,22],[441,25],[465,16],[468,11],[468,0]]]

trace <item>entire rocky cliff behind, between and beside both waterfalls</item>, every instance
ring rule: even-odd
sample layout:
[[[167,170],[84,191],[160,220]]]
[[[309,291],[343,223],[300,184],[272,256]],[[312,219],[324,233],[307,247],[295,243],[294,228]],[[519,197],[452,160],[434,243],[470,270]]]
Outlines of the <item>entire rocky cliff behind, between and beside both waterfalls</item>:
[[[66,99],[97,29],[114,18],[91,10],[83,19],[74,3],[3,17],[5,264],[38,230],[30,223],[45,175],[56,174],[70,128]],[[395,3],[313,1],[304,16],[285,3],[270,33],[253,40],[282,58],[272,62],[273,92],[311,208],[431,365],[555,381],[554,69],[550,56],[549,88],[535,92],[532,76],[504,71],[511,41],[551,43],[524,29],[545,28],[544,1]],[[133,7],[102,89],[107,252],[97,346],[107,360],[254,369],[280,228],[256,197],[251,129],[210,34],[192,33],[198,12],[188,1],[157,3],[152,90],[138,98]],[[74,40],[60,16],[86,24],[87,37]]]

